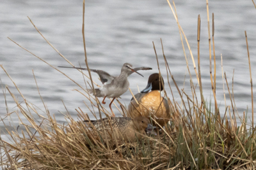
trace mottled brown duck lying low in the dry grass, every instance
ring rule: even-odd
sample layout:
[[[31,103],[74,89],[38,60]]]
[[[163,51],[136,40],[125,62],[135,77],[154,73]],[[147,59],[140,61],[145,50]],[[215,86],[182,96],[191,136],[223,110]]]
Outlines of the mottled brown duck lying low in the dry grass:
[[[142,137],[141,134],[151,133],[156,128],[145,117],[108,117],[102,118],[102,122],[101,120],[84,120],[84,124],[86,127],[99,131],[95,134],[100,134],[102,139],[107,137],[125,141],[136,141],[137,138]],[[106,130],[106,137],[103,128]]]

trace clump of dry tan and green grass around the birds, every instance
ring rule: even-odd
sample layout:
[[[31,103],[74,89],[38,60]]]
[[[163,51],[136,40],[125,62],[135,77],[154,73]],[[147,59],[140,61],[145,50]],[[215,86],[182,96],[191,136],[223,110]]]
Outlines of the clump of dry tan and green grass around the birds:
[[[170,3],[169,5],[173,11]],[[177,20],[174,11],[173,14]],[[178,20],[177,23],[179,25]],[[188,43],[180,25],[179,29],[181,32],[180,38],[182,39],[183,35],[185,41]],[[38,31],[38,29],[36,30]],[[214,46],[214,27],[212,30],[212,43]],[[209,39],[211,39],[210,33]],[[209,40],[209,46],[211,46],[211,40]],[[83,113],[82,110],[77,110],[81,121],[76,121],[67,114],[65,117],[69,123],[67,125],[58,124],[54,115],[51,115],[47,110],[45,104],[45,115],[38,113],[38,110],[36,110],[33,104],[26,101],[26,98],[22,95],[13,81],[13,84],[24,100],[23,104],[20,104],[17,97],[12,94],[8,87],[5,87],[5,89],[8,90],[8,93],[13,97],[13,101],[17,104],[17,111],[15,111],[17,116],[19,117],[18,112],[21,113],[26,120],[28,120],[29,124],[23,123],[24,121],[20,118],[20,126],[24,127],[24,130],[21,133],[8,130],[6,125],[6,132],[10,139],[12,139],[12,142],[4,141],[0,138],[1,166],[3,169],[255,168],[255,129],[253,129],[253,125],[251,126],[248,124],[247,113],[244,113],[243,118],[240,118],[241,126],[237,126],[237,118],[234,113],[235,108],[233,104],[227,107],[225,113],[222,113],[224,117],[220,117],[220,111],[216,104],[217,96],[215,95],[215,67],[214,78],[212,78],[211,74],[214,104],[207,103],[204,100],[202,93],[202,81],[200,78],[199,49],[200,16],[198,16],[198,73],[196,71],[193,55],[189,48],[200,89],[200,101],[198,101],[198,97],[196,95],[196,86],[191,78],[192,76],[189,71],[189,67],[188,71],[191,82],[191,94],[188,94],[188,92],[185,92],[177,86],[170,68],[168,67],[168,62],[163,50],[163,59],[166,63],[166,72],[168,74],[167,78],[170,90],[173,92],[170,85],[170,81],[173,81],[175,89],[180,94],[182,104],[178,104],[174,97],[171,101],[168,94],[165,93],[166,97],[168,97],[170,108],[172,109],[172,113],[170,113],[170,124],[166,125],[164,128],[161,127],[161,131],[158,131],[157,136],[144,135],[143,139],[132,143],[127,141],[117,141],[115,138],[112,140],[106,140],[97,135],[97,130],[87,129],[82,121],[87,119],[88,116],[86,113]],[[61,55],[61,57],[63,57],[63,55]],[[158,64],[157,55],[156,59]],[[87,59],[86,65],[88,66]],[[215,65],[214,53],[214,66]],[[3,66],[1,67],[4,69]],[[56,68],[54,67],[54,69]],[[6,74],[12,80],[11,76],[7,72]],[[89,77],[87,76],[87,78]],[[89,79],[93,84],[91,76]],[[72,79],[70,78],[70,80]],[[225,80],[227,81],[226,76]],[[81,94],[86,92],[81,85],[78,83],[77,85],[81,88],[81,90],[77,90],[78,92],[81,92]],[[90,96],[90,94],[88,94],[88,96],[84,96],[87,98],[88,102],[92,104],[93,108],[97,108],[100,118],[102,118],[102,114],[108,115],[108,111],[100,105],[97,98]],[[172,96],[172,94],[169,96]],[[232,101],[231,94],[230,100]],[[42,102],[44,103],[43,100]],[[95,104],[95,102],[97,104]],[[125,107],[121,103],[119,104],[122,108],[120,113],[125,115]],[[96,117],[98,112],[94,110],[90,111]],[[6,119],[3,118],[1,121],[6,122]]]

